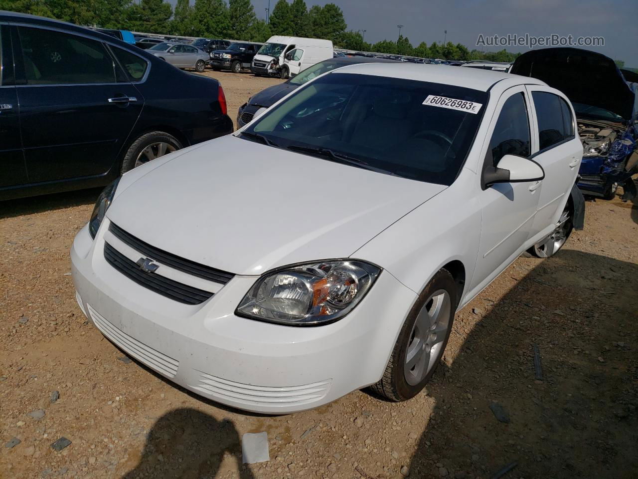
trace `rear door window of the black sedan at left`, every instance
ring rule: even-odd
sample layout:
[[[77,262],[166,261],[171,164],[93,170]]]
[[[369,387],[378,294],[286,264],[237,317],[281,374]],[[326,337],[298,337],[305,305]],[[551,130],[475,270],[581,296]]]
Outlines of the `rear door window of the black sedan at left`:
[[[18,27],[29,85],[115,82],[115,66],[96,40],[59,31]]]

